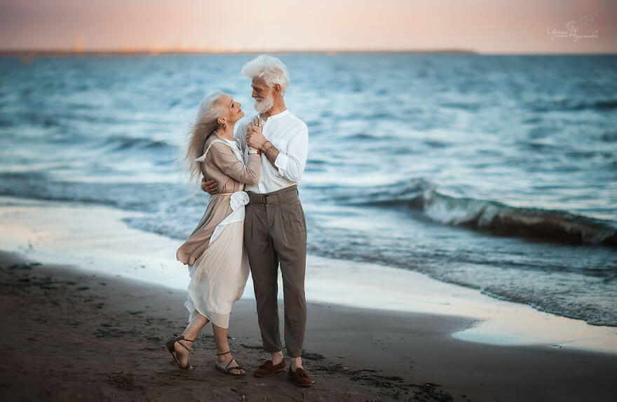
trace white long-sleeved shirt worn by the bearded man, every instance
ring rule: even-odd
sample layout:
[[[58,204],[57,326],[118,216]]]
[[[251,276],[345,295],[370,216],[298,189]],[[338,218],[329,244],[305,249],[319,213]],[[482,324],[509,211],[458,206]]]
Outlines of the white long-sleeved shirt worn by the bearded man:
[[[246,130],[255,117],[257,116],[238,124],[234,135],[243,152],[245,163],[248,161]],[[306,123],[285,109],[283,112],[269,116],[262,126],[262,133],[266,140],[278,149],[279,154],[273,166],[268,156],[262,152],[262,172],[259,175],[259,183],[253,186],[247,185],[245,190],[262,194],[297,185],[306,166],[308,152]]]

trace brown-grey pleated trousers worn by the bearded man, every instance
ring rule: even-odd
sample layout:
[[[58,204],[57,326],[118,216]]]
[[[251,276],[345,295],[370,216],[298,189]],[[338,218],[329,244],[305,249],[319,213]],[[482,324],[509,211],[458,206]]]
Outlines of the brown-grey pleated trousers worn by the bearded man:
[[[250,201],[245,207],[244,243],[264,350],[269,353],[283,350],[276,297],[280,264],[285,303],[285,349],[290,357],[299,357],[306,328],[306,220],[297,185],[276,192],[247,194]]]

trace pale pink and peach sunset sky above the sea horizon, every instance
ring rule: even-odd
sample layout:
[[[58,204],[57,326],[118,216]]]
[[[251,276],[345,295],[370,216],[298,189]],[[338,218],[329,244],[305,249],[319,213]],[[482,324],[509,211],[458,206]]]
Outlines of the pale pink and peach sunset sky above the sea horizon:
[[[617,1],[0,0],[2,50],[453,48],[617,53]]]

